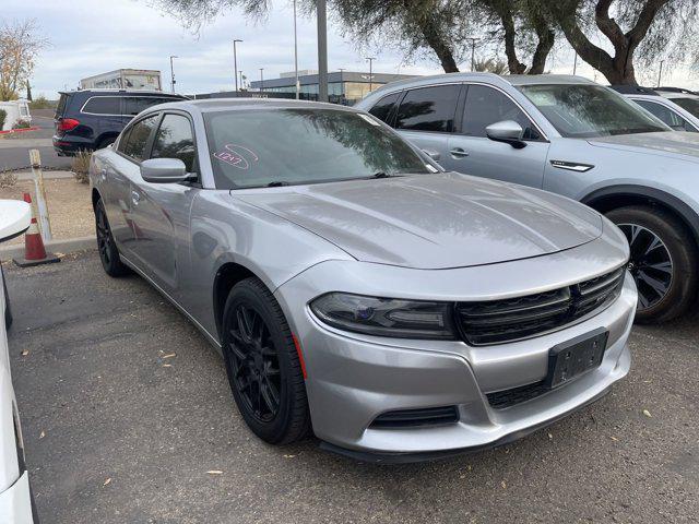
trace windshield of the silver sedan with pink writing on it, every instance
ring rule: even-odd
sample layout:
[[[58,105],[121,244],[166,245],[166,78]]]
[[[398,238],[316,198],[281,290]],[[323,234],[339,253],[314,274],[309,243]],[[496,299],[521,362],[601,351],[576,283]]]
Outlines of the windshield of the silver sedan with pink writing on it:
[[[393,131],[354,111],[263,108],[209,112],[204,120],[220,189],[436,170]]]

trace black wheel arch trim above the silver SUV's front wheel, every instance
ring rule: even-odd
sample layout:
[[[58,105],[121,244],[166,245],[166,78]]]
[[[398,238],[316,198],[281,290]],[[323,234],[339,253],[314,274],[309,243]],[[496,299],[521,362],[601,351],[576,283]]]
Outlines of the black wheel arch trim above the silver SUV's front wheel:
[[[581,199],[600,213],[628,205],[652,205],[662,207],[679,218],[699,246],[699,215],[677,196],[654,188],[640,186],[613,186],[597,189]]]

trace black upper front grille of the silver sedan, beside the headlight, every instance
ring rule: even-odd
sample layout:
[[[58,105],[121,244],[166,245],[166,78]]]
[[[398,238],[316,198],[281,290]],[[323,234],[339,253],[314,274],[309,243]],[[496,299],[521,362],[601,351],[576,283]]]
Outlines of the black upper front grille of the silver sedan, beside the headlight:
[[[474,346],[530,338],[558,330],[616,299],[624,269],[550,291],[482,302],[460,302],[457,315]]]

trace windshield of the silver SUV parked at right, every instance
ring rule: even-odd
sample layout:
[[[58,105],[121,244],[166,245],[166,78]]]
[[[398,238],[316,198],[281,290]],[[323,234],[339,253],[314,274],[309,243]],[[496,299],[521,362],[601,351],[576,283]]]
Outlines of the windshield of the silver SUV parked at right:
[[[519,90],[561,136],[587,139],[670,130],[633,103],[601,85],[520,85]]]

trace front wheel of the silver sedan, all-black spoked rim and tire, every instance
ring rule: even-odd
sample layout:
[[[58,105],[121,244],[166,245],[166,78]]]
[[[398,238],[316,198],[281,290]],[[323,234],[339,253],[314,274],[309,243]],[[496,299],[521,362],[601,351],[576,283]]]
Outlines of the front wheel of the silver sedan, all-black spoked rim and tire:
[[[301,440],[310,428],[301,365],[284,313],[262,282],[233,287],[222,329],[228,382],[248,427],[271,444]]]

